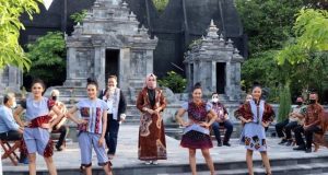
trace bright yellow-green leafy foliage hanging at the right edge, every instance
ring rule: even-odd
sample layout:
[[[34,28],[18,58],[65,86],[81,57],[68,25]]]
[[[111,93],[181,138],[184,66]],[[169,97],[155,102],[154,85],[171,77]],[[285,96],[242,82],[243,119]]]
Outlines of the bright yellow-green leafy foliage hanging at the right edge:
[[[323,92],[328,81],[328,12],[302,9],[294,23],[294,37],[278,52],[279,66],[289,65],[288,80],[302,82],[302,89]]]

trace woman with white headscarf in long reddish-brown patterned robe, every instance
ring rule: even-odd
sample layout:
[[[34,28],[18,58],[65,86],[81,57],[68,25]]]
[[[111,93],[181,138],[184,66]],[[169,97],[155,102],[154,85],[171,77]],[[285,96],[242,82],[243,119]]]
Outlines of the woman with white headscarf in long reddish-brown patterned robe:
[[[137,108],[141,112],[139,128],[139,160],[157,164],[166,160],[166,142],[161,112],[166,107],[163,91],[156,86],[156,75],[145,78],[144,88],[138,95]]]

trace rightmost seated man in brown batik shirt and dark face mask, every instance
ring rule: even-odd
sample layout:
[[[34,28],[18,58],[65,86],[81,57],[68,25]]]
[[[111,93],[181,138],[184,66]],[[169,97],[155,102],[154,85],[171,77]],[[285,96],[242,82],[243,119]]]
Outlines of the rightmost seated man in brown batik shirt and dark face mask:
[[[301,110],[304,116],[304,125],[295,128],[295,139],[297,148],[294,150],[312,152],[313,135],[323,132],[320,128],[320,119],[324,115],[324,107],[318,103],[318,94],[311,93],[308,97],[308,105],[305,110]],[[305,136],[306,143],[303,140],[302,133]]]

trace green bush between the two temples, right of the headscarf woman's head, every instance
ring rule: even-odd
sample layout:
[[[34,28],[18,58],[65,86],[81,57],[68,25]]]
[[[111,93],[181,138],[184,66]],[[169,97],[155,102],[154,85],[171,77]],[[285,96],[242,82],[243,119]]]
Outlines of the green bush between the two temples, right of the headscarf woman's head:
[[[175,71],[169,71],[166,73],[162,80],[159,80],[161,86],[169,88],[174,93],[181,93],[185,91],[187,85],[187,80]]]

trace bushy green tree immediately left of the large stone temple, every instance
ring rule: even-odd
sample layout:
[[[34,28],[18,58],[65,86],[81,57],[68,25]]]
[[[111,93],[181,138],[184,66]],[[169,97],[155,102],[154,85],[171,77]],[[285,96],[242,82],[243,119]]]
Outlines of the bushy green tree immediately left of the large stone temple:
[[[28,44],[27,49],[27,58],[33,63],[25,77],[40,78],[47,85],[59,85],[65,81],[66,46],[61,32],[49,32]]]

